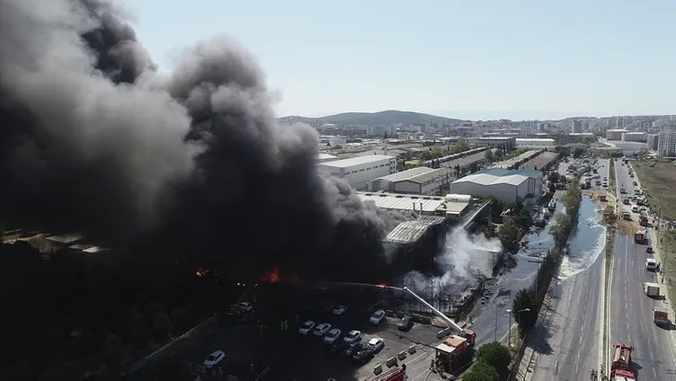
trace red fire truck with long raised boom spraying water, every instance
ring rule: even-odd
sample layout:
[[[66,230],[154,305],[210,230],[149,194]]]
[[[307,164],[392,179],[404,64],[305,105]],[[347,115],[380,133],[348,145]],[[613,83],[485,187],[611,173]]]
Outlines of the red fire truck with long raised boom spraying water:
[[[476,332],[462,328],[458,323],[454,322],[448,316],[443,315],[438,309],[427,303],[423,297],[419,297],[411,291],[411,289],[402,289],[418,299],[424,306],[430,308],[431,311],[438,315],[443,321],[449,323],[449,329],[455,329],[455,331],[458,332],[458,334],[450,335],[449,338],[441,341],[439,345],[434,347],[437,368],[443,368],[445,371],[449,372],[458,365],[458,362],[461,359],[466,359],[467,356],[472,355],[476,341]]]

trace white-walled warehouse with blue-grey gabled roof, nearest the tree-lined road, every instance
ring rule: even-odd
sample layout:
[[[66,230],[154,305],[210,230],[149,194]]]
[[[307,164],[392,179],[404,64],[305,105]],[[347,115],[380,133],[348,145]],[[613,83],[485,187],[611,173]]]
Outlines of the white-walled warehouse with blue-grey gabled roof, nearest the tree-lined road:
[[[532,204],[541,194],[542,173],[533,170],[489,169],[470,174],[450,184],[452,193],[478,198],[494,197],[503,202],[520,200]]]

